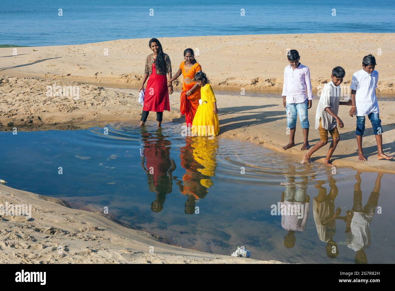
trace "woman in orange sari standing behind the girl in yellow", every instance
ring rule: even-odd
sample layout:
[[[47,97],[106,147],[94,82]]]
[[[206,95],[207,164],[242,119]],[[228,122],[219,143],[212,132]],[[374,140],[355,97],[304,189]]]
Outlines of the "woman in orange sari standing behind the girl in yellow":
[[[171,82],[182,74],[184,79],[182,80],[180,111],[181,114],[185,114],[186,125],[191,126],[196,110],[198,110],[200,90],[196,90],[190,96],[186,96],[185,93],[189,89],[192,89],[196,84],[195,74],[196,72],[201,71],[201,66],[196,61],[194,51],[191,48],[184,50],[184,59],[185,61],[181,62],[179,70],[174,74],[173,78],[168,81],[168,83],[171,84]]]

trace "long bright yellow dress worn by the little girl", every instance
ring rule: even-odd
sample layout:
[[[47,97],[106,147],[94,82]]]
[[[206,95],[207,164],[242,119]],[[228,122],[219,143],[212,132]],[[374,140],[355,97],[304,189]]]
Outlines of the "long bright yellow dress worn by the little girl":
[[[213,88],[205,84],[200,88],[201,104],[196,111],[191,131],[194,135],[213,136],[220,133],[218,114],[214,114],[214,103],[216,102]]]

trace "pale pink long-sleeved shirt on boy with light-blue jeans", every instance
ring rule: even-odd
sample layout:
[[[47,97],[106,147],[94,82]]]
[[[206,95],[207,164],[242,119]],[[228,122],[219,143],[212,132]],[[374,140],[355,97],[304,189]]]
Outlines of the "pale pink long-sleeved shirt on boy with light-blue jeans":
[[[291,65],[285,67],[282,96],[286,96],[287,103],[303,103],[306,99],[313,99],[308,67],[301,63],[295,70]]]

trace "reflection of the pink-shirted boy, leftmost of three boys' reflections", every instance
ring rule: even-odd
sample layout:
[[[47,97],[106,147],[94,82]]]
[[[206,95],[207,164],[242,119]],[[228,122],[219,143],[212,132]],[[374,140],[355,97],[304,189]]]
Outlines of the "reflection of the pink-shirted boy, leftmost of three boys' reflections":
[[[283,210],[281,210],[281,226],[288,231],[288,234],[284,237],[284,246],[292,248],[295,246],[296,242],[295,231],[305,230],[310,205],[310,196],[306,194],[306,183],[299,184],[296,189],[294,183],[295,178],[288,180],[290,182],[286,186],[285,191],[282,192],[280,209],[285,209],[286,211],[285,215],[283,215]],[[298,209],[298,211],[293,211],[293,209]],[[303,213],[303,216],[301,217],[298,213]]]

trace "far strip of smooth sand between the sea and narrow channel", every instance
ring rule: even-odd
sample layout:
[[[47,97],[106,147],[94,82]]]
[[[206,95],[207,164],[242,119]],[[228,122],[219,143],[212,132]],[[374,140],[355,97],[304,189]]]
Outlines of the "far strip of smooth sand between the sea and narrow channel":
[[[0,74],[139,86],[150,53],[148,41],[17,48],[17,56],[12,48],[0,48]],[[332,68],[339,65],[346,70],[344,84],[349,84],[352,74],[361,68],[363,56],[372,53],[380,73],[377,90],[395,92],[391,65],[395,34],[391,33],[194,36],[160,41],[170,56],[173,73],[184,60],[184,49],[192,48],[213,86],[246,89],[282,89],[290,48],[296,48],[301,63],[310,68],[313,90],[329,81]]]

